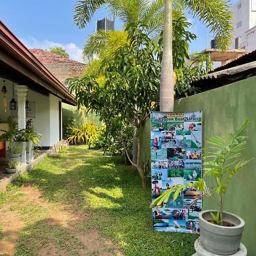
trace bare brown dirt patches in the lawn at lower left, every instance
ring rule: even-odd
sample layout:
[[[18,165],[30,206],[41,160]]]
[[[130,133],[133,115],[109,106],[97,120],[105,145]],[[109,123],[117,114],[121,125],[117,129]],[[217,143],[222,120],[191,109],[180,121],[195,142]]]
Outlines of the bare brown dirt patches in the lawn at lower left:
[[[80,224],[85,224],[88,221],[88,215],[83,210],[77,209],[77,205],[74,202],[73,205],[56,205],[48,203],[42,197],[42,193],[32,187],[32,184],[27,184],[20,189],[23,193],[22,208],[20,207],[20,201],[14,203],[7,203],[3,208],[0,209],[0,222],[3,229],[3,239],[0,241],[0,255],[13,255],[15,248],[19,243],[19,234],[26,229],[29,225],[21,211],[28,205],[34,205],[40,207],[42,212],[47,214],[46,218],[41,218],[42,225],[48,225],[54,228],[60,227],[63,231],[71,234],[72,240],[78,240],[80,245],[79,254],[76,255],[122,255],[121,251],[112,241],[106,240],[100,236],[98,230],[89,230],[84,232],[79,230]],[[20,193],[19,192],[19,193]],[[17,210],[18,209],[18,210]],[[32,209],[29,209],[30,211]],[[28,210],[28,211],[29,211]],[[59,228],[59,229],[60,229]],[[38,232],[38,230],[35,230]],[[35,247],[31,253],[34,255],[73,255],[72,247],[69,250],[60,249],[60,246],[56,242],[51,242],[52,233],[43,234],[44,241],[35,241]],[[69,241],[70,240],[70,241]],[[52,240],[53,241],[53,240]],[[71,238],[67,238],[67,247],[69,243],[73,244]],[[26,245],[26,241],[24,241]],[[75,245],[74,245],[75,247]]]

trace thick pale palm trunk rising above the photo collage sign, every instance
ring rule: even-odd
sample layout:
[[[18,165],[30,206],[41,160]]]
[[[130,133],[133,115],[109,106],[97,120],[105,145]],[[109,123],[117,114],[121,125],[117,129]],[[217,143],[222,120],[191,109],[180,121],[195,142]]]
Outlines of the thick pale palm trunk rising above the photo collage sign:
[[[163,59],[160,80],[160,111],[174,111],[174,67],[172,64],[172,0],[164,8]]]

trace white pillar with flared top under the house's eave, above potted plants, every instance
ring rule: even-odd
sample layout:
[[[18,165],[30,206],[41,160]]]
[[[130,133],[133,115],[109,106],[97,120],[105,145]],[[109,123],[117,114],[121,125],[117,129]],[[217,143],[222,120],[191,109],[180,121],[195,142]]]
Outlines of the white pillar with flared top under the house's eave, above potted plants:
[[[15,85],[15,90],[18,98],[18,128],[26,128],[26,97],[27,97],[27,86]]]

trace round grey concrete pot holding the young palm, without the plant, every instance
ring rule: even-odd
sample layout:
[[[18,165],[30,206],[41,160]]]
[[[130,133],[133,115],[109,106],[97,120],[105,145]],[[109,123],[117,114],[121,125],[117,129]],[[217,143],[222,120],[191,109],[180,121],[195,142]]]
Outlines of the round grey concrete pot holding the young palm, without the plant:
[[[217,213],[216,210],[204,210],[199,213],[200,238],[203,247],[210,253],[218,255],[237,253],[245,221],[232,213],[223,212],[224,221],[234,226],[218,226],[208,222],[212,220],[210,212]]]

